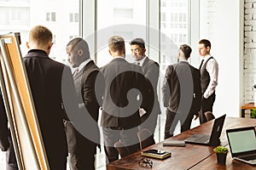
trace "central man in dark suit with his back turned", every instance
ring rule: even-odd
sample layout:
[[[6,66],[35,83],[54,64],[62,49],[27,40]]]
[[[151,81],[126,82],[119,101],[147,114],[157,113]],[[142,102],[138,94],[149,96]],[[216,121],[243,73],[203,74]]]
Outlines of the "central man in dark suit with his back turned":
[[[113,36],[108,40],[108,52],[113,59],[101,68],[106,88],[102,103],[102,131],[107,163],[119,158],[113,145],[119,140],[130,153],[138,150],[138,109],[143,105],[143,72],[140,66],[125,60],[125,40]],[[141,79],[141,80],[140,80]]]

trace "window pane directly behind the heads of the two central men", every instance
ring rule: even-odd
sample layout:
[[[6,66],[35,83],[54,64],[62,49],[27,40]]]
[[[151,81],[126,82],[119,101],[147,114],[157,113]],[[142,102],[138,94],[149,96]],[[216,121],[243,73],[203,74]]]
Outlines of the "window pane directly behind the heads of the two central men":
[[[119,35],[125,38],[126,59],[132,62],[129,42],[135,37],[147,41],[147,0],[97,1],[97,64],[106,65],[108,38]]]

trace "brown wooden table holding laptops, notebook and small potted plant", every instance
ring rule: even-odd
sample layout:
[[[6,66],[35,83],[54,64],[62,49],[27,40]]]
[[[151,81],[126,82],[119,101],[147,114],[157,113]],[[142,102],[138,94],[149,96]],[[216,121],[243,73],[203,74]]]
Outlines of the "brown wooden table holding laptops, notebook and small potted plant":
[[[178,134],[170,139],[186,139],[192,134],[195,133],[211,133],[213,125],[213,120],[210,122],[206,122],[199,127],[195,127],[193,129],[189,129],[183,133]],[[226,117],[224,122],[224,129],[220,137],[221,144],[227,145],[228,140],[226,138],[225,129],[233,128],[233,127],[248,127],[255,126],[256,119],[248,119],[248,118],[235,118],[235,117]],[[153,161],[152,169],[207,169],[207,164],[211,164],[213,167],[209,169],[225,169],[226,166],[219,166],[216,161],[216,154],[213,152],[214,146],[205,146],[200,144],[186,144],[185,147],[176,147],[176,146],[163,146],[162,142],[158,144],[154,144],[148,146],[144,150],[148,149],[157,149],[157,150],[166,150],[172,152],[172,157],[167,158],[166,160],[157,160],[154,158],[150,158]],[[141,152],[137,151],[129,156],[126,156],[117,161],[113,161],[107,165],[108,170],[117,170],[117,169],[138,169],[145,170],[145,167],[140,167],[138,162],[143,158],[141,156]],[[230,153],[228,154],[227,165],[229,165],[229,169],[238,166],[245,167],[246,169],[248,165],[241,163],[240,161],[232,161],[230,157]],[[239,168],[241,169],[241,168]]]

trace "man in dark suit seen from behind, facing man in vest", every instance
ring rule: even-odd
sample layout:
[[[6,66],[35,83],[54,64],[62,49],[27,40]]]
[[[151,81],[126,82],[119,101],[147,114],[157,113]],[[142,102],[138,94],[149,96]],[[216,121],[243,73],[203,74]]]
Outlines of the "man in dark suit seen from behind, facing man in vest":
[[[177,122],[181,132],[190,128],[193,116],[199,116],[201,108],[200,71],[189,65],[192,49],[183,44],[178,49],[178,62],[166,69],[162,92],[166,110],[165,139],[173,136]]]

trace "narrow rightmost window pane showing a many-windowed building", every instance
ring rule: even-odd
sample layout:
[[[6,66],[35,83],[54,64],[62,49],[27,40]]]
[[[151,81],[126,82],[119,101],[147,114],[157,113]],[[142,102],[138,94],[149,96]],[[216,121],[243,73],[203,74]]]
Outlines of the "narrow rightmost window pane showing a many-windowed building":
[[[152,11],[149,11],[152,13]],[[189,0],[160,0],[160,34],[158,59],[160,63],[159,100],[162,114],[159,116],[158,129],[155,136],[164,139],[166,108],[163,106],[161,87],[166,73],[166,67],[177,62],[177,48],[183,43],[189,43]],[[149,35],[152,36],[152,35]],[[154,47],[153,47],[154,48]],[[179,125],[175,133],[179,133]]]

